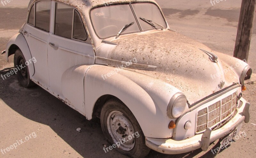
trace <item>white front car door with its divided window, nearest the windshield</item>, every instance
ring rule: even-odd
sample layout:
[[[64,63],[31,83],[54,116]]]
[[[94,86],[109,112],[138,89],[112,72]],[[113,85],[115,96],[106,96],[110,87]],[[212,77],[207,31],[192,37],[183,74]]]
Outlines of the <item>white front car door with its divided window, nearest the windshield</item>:
[[[75,68],[79,66],[89,68],[93,65],[95,59],[93,47],[80,13],[68,4],[53,1],[52,5],[55,5],[55,16],[53,16],[53,33],[50,34],[48,44],[50,78],[48,89],[83,113],[84,80],[74,83],[74,78],[83,77],[84,79],[86,70],[82,74],[83,76],[70,74],[67,78],[67,75],[64,74],[75,71]],[[69,83],[63,84],[63,82],[67,82],[63,80],[68,80]]]

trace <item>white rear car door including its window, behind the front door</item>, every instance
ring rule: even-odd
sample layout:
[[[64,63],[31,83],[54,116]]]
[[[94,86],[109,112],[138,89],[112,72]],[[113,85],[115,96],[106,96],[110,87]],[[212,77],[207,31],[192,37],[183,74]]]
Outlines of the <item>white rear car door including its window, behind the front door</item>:
[[[45,88],[49,86],[47,49],[50,31],[51,1],[38,1],[30,9],[24,36],[32,58],[35,57],[35,74],[31,79]]]

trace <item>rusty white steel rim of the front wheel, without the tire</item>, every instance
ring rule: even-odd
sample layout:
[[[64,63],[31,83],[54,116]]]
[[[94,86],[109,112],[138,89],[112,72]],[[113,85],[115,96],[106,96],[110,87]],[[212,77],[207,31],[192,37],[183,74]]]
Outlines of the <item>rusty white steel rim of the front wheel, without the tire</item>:
[[[130,151],[135,145],[134,128],[131,121],[120,111],[111,111],[107,117],[108,133],[119,148]],[[127,141],[124,142],[123,140]]]

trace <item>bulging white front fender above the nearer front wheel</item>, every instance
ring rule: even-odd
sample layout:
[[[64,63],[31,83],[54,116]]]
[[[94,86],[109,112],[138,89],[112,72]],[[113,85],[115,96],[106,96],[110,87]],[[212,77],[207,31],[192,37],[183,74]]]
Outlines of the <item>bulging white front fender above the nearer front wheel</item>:
[[[113,75],[108,77],[111,72]],[[168,118],[166,110],[171,97],[180,92],[177,88],[132,70],[93,65],[86,72],[84,90],[87,119],[92,119],[91,105],[109,94],[116,96],[132,111],[146,137],[172,137],[173,130],[168,128],[172,119]]]

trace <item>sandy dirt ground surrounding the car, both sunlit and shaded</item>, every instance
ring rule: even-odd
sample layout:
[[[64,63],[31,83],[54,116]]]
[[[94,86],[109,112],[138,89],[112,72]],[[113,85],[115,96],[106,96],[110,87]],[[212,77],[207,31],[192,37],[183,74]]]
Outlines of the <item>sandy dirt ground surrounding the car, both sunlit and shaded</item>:
[[[210,0],[157,0],[170,27],[194,38],[215,51],[232,55],[236,40],[241,0],[227,0],[212,6]],[[16,34],[26,18],[28,0],[12,0],[0,4],[0,50],[4,50],[9,38]],[[255,26],[255,25],[254,25]],[[253,28],[249,64],[256,72],[256,29]],[[0,55],[0,75],[13,68],[13,56],[7,63]],[[255,76],[254,76],[255,78]],[[255,79],[254,79],[255,80]],[[251,103],[251,121],[256,123],[255,84],[247,85],[244,98]],[[0,79],[0,149],[18,145],[16,149],[0,157],[126,157],[115,150],[108,153],[108,145],[98,119],[88,121],[42,88],[20,87],[16,76]],[[246,137],[239,138],[219,154],[196,151],[164,155],[150,151],[148,157],[255,157],[256,126],[244,124]],[[78,133],[76,128],[82,128]],[[30,137],[29,137],[30,136]],[[25,139],[28,140],[25,140]],[[217,141],[211,147],[218,147]]]

